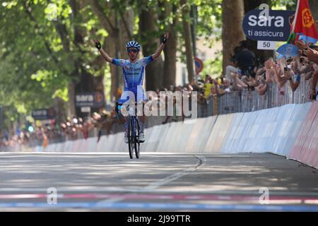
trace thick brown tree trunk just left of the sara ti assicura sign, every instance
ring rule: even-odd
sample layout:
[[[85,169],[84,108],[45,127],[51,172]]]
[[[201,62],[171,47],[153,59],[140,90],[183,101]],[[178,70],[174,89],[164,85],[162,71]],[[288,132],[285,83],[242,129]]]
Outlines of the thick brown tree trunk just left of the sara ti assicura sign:
[[[242,40],[245,40],[242,29],[244,2],[243,0],[223,0],[222,8],[223,74],[225,74],[225,68],[230,64],[230,57],[234,54],[234,48]]]

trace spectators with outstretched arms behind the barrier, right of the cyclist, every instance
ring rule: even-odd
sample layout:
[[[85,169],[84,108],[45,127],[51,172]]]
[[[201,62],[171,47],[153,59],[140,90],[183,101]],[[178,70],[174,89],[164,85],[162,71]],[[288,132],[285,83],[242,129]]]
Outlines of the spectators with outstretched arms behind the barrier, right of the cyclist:
[[[318,52],[317,46],[297,41],[300,49],[299,57],[269,58],[257,62],[255,54],[249,50],[246,41],[236,47],[231,57],[231,64],[226,67],[225,75],[212,78],[209,75],[199,79],[199,83],[192,85],[199,92],[199,103],[207,104],[213,97],[218,97],[240,90],[256,90],[259,95],[265,95],[269,84],[278,86],[283,95],[285,83],[289,83],[293,92],[298,89],[300,81],[310,81],[311,100],[317,97],[318,80]]]

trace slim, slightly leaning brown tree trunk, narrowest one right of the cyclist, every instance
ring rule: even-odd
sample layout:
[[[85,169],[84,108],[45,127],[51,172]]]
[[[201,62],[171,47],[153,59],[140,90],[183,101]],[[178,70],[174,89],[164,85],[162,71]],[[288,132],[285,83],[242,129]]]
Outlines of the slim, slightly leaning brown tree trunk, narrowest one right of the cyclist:
[[[188,81],[191,83],[194,78],[194,54],[192,51],[191,28],[187,21],[187,17],[189,16],[189,5],[187,4],[187,0],[181,0],[180,4],[182,7],[182,25],[187,57]]]

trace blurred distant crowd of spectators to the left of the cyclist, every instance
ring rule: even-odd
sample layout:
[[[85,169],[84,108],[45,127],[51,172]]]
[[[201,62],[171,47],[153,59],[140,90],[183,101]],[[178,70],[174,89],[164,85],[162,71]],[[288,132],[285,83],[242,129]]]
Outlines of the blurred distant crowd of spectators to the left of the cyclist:
[[[18,145],[42,145],[44,148],[49,143],[71,141],[78,138],[87,139],[95,136],[93,129],[97,131],[97,142],[100,141],[102,133],[109,135],[114,123],[114,112],[107,112],[101,109],[100,112],[94,112],[85,119],[72,117],[56,124],[54,120],[50,124],[35,126],[33,131],[28,128],[18,129],[14,135],[9,136],[8,131],[4,130],[0,136],[0,148],[6,150],[8,147]]]

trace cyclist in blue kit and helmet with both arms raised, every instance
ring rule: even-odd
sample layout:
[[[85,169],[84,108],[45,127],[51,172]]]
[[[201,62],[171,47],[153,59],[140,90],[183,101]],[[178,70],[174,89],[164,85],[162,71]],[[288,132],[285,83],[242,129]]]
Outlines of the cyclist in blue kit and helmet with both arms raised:
[[[118,104],[122,105],[128,100],[126,100],[124,97],[126,97],[125,91],[130,91],[134,93],[135,95],[135,101],[136,102],[146,102],[146,96],[143,92],[143,78],[145,75],[145,68],[147,64],[150,64],[155,59],[158,59],[161,52],[163,52],[163,48],[165,47],[165,42],[167,42],[169,38],[169,33],[165,34],[163,37],[163,41],[161,42],[160,46],[158,47],[157,51],[152,54],[151,56],[145,57],[143,59],[138,59],[139,57],[139,51],[141,49],[141,46],[136,41],[130,41],[127,42],[126,48],[127,48],[127,54],[129,59],[114,59],[110,57],[104,49],[102,49],[102,45],[100,44],[99,40],[93,40],[93,43],[95,44],[95,47],[98,49],[100,54],[102,54],[102,57],[111,64],[114,64],[116,66],[120,66],[122,68],[122,72],[124,75],[124,92],[122,94],[122,97],[120,97]],[[116,107],[116,113],[119,121],[124,124],[125,126],[125,137],[124,141],[125,143],[128,143],[128,120],[121,114],[119,107],[117,105]],[[146,123],[146,116],[143,115],[140,117],[140,134],[139,134],[139,142],[143,143],[145,142],[145,123]]]

